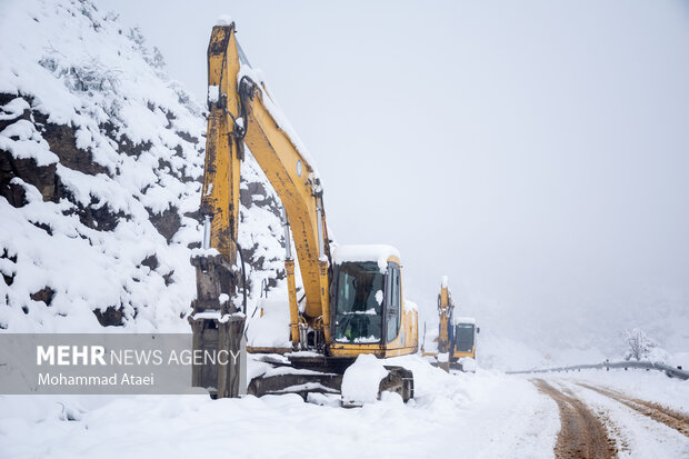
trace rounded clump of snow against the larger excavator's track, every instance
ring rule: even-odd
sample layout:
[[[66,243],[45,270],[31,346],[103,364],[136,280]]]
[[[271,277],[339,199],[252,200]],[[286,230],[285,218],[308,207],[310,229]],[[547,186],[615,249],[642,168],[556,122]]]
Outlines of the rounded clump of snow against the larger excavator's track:
[[[380,381],[388,370],[376,356],[360,355],[342,377],[342,402],[362,405],[378,399]]]

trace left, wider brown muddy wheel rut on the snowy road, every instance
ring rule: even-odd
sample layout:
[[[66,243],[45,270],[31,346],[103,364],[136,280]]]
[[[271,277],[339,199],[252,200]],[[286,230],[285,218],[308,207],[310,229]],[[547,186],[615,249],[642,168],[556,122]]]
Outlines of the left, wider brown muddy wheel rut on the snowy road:
[[[608,459],[617,456],[615,440],[601,420],[569,390],[558,390],[542,379],[532,382],[558,403],[561,428],[555,447],[557,459]]]

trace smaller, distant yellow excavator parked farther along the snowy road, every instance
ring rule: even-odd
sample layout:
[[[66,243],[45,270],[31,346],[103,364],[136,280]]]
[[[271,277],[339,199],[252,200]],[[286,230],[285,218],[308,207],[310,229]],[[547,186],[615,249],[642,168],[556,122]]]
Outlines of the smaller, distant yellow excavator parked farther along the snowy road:
[[[448,287],[448,278],[443,276],[440,281],[440,293],[438,295],[438,338],[433,339],[437,349],[427,349],[426,337],[421,353],[423,356],[436,357],[439,368],[450,371],[450,368],[473,371],[473,365],[462,365],[466,358],[476,359],[476,335],[480,329],[476,327],[476,319],[471,317],[456,317],[455,302]]]

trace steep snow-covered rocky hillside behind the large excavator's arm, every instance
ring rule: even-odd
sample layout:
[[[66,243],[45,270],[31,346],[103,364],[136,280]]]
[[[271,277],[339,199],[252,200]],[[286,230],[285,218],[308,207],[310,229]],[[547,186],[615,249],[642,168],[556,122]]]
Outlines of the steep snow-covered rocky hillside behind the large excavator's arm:
[[[3,1],[0,56],[0,329],[188,331],[203,110],[88,0]],[[251,158],[241,192],[257,296],[281,287],[282,229]]]

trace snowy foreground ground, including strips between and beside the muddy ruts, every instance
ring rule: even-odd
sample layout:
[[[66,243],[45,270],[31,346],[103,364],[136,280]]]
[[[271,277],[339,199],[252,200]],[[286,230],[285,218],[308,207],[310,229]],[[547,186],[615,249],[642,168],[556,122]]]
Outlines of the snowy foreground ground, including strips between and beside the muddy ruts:
[[[415,399],[383,393],[361,408],[338,396],[0,397],[0,458],[437,457],[551,458],[556,402],[531,382],[569,390],[605,419],[620,457],[689,457],[689,438],[580,385],[689,412],[689,381],[659,372],[510,376],[452,372],[418,356],[389,359],[415,375]]]

